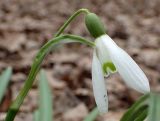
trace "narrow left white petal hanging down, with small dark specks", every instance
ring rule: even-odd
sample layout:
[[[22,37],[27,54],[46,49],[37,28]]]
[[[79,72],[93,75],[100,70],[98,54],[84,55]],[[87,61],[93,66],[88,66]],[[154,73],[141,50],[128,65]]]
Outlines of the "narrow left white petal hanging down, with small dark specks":
[[[101,64],[97,58],[95,51],[93,53],[92,62],[92,84],[97,107],[101,113],[105,113],[108,111],[107,90],[105,87]]]

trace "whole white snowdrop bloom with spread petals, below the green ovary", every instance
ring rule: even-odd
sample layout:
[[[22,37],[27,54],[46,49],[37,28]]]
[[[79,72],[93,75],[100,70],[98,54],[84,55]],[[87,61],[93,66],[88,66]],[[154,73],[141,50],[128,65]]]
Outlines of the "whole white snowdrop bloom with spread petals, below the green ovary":
[[[119,72],[125,83],[141,93],[150,91],[149,81],[136,62],[108,36],[95,40],[92,62],[93,92],[101,113],[108,111],[108,97],[104,76]]]

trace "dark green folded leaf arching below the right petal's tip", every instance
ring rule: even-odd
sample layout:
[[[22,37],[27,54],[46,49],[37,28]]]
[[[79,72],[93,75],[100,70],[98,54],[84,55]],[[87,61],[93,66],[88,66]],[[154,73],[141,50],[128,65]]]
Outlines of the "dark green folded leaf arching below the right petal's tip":
[[[137,112],[145,110],[145,105],[148,104],[149,94],[143,95],[139,98],[138,101],[136,101],[128,110],[125,112],[125,114],[122,116],[120,121],[134,121],[135,116],[137,115]],[[143,107],[144,106],[144,107]],[[143,109],[144,108],[144,109]]]

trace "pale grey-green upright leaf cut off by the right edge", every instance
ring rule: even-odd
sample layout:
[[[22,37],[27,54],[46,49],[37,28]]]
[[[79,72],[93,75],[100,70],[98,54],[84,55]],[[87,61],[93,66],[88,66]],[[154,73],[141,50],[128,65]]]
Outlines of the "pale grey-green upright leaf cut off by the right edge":
[[[148,121],[160,121],[160,95],[151,94]]]

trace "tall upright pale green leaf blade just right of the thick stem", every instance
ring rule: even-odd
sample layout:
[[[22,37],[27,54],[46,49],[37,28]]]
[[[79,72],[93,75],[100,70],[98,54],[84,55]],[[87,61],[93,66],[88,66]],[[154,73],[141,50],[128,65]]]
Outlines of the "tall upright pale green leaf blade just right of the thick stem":
[[[40,71],[39,90],[40,90],[40,104],[39,104],[40,121],[53,121],[52,94],[44,70]]]

